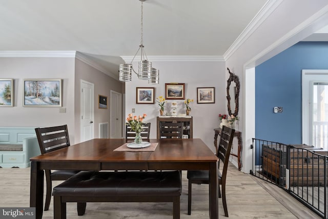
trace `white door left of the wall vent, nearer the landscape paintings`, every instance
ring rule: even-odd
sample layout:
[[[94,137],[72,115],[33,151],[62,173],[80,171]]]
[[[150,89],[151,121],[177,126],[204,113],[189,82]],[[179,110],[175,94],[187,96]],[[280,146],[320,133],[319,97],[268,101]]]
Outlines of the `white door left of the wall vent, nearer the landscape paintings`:
[[[94,84],[81,80],[80,142],[94,138]]]

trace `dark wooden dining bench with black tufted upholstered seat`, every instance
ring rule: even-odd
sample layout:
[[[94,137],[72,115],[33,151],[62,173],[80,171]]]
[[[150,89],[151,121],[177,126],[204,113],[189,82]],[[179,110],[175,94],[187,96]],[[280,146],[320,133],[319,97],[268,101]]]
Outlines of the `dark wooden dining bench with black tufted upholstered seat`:
[[[172,202],[178,219],[181,190],[179,171],[80,171],[53,188],[54,218],[66,218],[67,202]]]

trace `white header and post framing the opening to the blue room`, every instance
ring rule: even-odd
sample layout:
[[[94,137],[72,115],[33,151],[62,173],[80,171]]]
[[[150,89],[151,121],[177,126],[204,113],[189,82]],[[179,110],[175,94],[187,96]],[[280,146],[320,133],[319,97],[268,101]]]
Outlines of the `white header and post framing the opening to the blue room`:
[[[227,67],[238,75],[241,81],[241,98],[239,99],[241,121],[239,127],[243,132],[242,171],[247,173],[252,169],[250,144],[252,143],[252,137],[254,137],[254,121],[246,121],[248,115],[245,112],[255,110],[255,96],[245,95],[254,94],[254,81],[252,81],[254,80],[254,72],[251,70],[250,75],[247,75],[246,69],[259,65],[328,24],[327,1],[289,0],[271,2],[278,2],[278,7],[226,61]],[[248,108],[245,109],[245,106]]]

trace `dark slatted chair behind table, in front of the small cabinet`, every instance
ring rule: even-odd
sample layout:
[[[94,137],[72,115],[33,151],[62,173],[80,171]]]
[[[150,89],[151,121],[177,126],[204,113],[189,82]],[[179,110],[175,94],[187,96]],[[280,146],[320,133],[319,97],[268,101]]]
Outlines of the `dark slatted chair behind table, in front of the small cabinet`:
[[[159,138],[182,138],[183,123],[160,123]]]

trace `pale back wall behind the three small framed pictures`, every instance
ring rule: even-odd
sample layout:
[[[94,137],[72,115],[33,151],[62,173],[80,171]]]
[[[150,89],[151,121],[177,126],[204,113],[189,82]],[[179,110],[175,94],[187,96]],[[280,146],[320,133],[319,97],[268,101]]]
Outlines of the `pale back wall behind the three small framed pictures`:
[[[151,59],[149,59],[151,61]],[[135,115],[147,114],[150,122],[150,137],[156,138],[156,116],[159,116],[160,107],[155,104],[136,104],[136,87],[155,87],[155,97],[165,96],[165,83],[185,83],[186,98],[194,99],[191,103],[193,116],[193,137],[201,138],[214,151],[214,128],[219,127],[218,114],[224,113],[227,108],[226,78],[224,62],[152,62],[154,68],[159,69],[159,85],[150,85],[142,81],[133,73],[132,82],[126,83],[126,112],[125,118],[135,108]],[[134,63],[137,69],[137,63]],[[215,87],[215,104],[197,104],[197,87]],[[178,114],[186,113],[184,100],[177,100]],[[173,101],[168,100],[166,106]],[[168,108],[165,108],[168,111]]]

